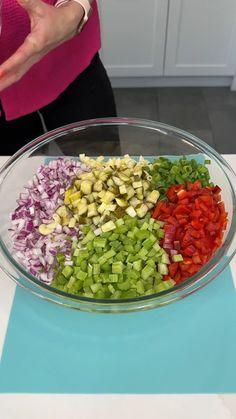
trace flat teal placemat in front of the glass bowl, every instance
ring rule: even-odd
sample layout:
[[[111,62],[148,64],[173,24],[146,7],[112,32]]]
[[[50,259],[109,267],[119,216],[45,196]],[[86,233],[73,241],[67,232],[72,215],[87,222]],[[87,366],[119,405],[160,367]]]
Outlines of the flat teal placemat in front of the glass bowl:
[[[17,288],[0,392],[236,392],[230,269],[196,294],[123,315],[55,306]]]

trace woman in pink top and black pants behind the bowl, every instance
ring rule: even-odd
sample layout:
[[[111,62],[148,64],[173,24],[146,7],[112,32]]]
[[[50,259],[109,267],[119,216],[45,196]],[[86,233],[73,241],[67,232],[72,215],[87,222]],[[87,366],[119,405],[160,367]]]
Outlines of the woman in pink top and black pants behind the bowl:
[[[3,1],[0,154],[41,135],[42,118],[51,130],[116,115],[99,49],[96,1]]]

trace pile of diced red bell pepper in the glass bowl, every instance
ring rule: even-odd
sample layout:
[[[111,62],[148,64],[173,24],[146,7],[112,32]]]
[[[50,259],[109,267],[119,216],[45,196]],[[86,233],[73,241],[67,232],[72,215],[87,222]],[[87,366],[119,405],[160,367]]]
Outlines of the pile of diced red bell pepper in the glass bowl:
[[[183,261],[169,265],[169,275],[180,283],[199,271],[222,244],[228,214],[219,187],[201,188],[201,182],[173,185],[167,191],[171,202],[159,202],[153,218],[164,221],[161,244],[177,250]],[[171,253],[171,252],[170,252]]]

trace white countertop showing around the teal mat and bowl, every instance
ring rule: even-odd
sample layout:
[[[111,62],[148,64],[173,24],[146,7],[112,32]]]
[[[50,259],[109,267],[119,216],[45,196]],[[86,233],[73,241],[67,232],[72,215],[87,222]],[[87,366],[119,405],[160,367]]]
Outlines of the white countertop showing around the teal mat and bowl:
[[[236,155],[224,157],[236,170]],[[0,165],[6,160],[6,157],[1,156]],[[236,272],[235,258],[231,267],[232,272]],[[1,272],[0,362],[14,293],[15,285]],[[236,394],[0,394],[0,417],[2,419],[120,419],[121,417],[124,419],[143,419],[144,417],[148,419],[236,419]]]

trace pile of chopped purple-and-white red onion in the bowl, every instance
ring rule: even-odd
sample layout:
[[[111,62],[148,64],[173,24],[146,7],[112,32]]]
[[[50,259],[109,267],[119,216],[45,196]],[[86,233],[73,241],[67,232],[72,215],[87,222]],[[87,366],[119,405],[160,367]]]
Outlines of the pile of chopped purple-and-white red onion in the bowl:
[[[77,237],[79,229],[58,225],[53,233],[42,236],[38,226],[51,222],[76,175],[89,170],[84,163],[65,158],[40,166],[20,194],[18,207],[11,214],[12,247],[16,258],[32,275],[47,284],[53,280],[56,253],[71,254],[72,241],[68,236]]]

